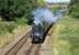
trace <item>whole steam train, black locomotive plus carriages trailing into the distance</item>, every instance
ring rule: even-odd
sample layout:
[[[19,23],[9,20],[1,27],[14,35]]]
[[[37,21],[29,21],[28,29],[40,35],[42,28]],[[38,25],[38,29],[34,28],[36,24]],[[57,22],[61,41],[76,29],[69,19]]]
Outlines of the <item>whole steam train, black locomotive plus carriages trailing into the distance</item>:
[[[54,16],[50,18],[53,21],[42,21],[41,23],[32,24],[32,43],[44,43],[46,34],[48,33],[49,29],[56,23],[56,21],[65,14],[65,10],[59,10],[58,12],[54,13]],[[46,19],[47,20],[47,19]]]

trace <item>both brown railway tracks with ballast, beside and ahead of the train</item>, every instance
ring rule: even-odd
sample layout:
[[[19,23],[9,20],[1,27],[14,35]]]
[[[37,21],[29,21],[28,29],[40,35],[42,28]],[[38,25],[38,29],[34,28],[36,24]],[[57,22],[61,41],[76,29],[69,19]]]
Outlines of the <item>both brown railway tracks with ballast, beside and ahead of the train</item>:
[[[32,44],[30,37],[31,31],[7,51],[4,55],[40,55],[42,44]]]

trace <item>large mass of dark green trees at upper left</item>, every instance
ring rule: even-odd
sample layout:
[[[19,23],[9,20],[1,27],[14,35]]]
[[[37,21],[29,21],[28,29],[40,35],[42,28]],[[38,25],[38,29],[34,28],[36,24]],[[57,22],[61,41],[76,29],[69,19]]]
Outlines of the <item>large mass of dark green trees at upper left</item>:
[[[7,21],[25,16],[32,21],[32,10],[36,8],[36,0],[0,0],[0,15]]]

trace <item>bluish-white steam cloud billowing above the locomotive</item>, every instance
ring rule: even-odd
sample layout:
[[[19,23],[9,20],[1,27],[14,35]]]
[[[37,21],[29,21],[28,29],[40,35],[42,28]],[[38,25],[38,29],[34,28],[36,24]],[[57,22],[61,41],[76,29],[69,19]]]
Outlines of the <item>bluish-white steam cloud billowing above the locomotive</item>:
[[[64,11],[59,10],[58,12],[53,13],[53,11],[49,11],[48,9],[36,9],[35,11],[33,11],[34,23],[38,24],[43,21],[48,23],[57,22],[57,20],[63,16],[63,12]]]

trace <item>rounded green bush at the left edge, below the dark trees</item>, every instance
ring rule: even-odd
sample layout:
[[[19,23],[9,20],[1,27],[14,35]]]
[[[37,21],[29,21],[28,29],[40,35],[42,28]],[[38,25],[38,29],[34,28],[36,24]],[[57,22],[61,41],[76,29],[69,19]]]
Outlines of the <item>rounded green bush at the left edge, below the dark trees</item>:
[[[14,23],[0,22],[0,34],[11,33],[14,28]]]

